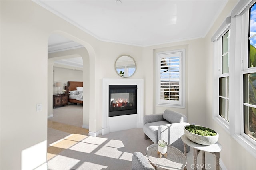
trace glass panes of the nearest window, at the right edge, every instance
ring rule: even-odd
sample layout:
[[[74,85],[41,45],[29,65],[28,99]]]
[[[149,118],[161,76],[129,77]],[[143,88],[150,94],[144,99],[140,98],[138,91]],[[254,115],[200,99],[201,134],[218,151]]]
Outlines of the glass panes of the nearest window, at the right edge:
[[[256,4],[249,9],[248,66],[244,77],[244,133],[256,140]],[[246,54],[246,53],[245,53]]]

